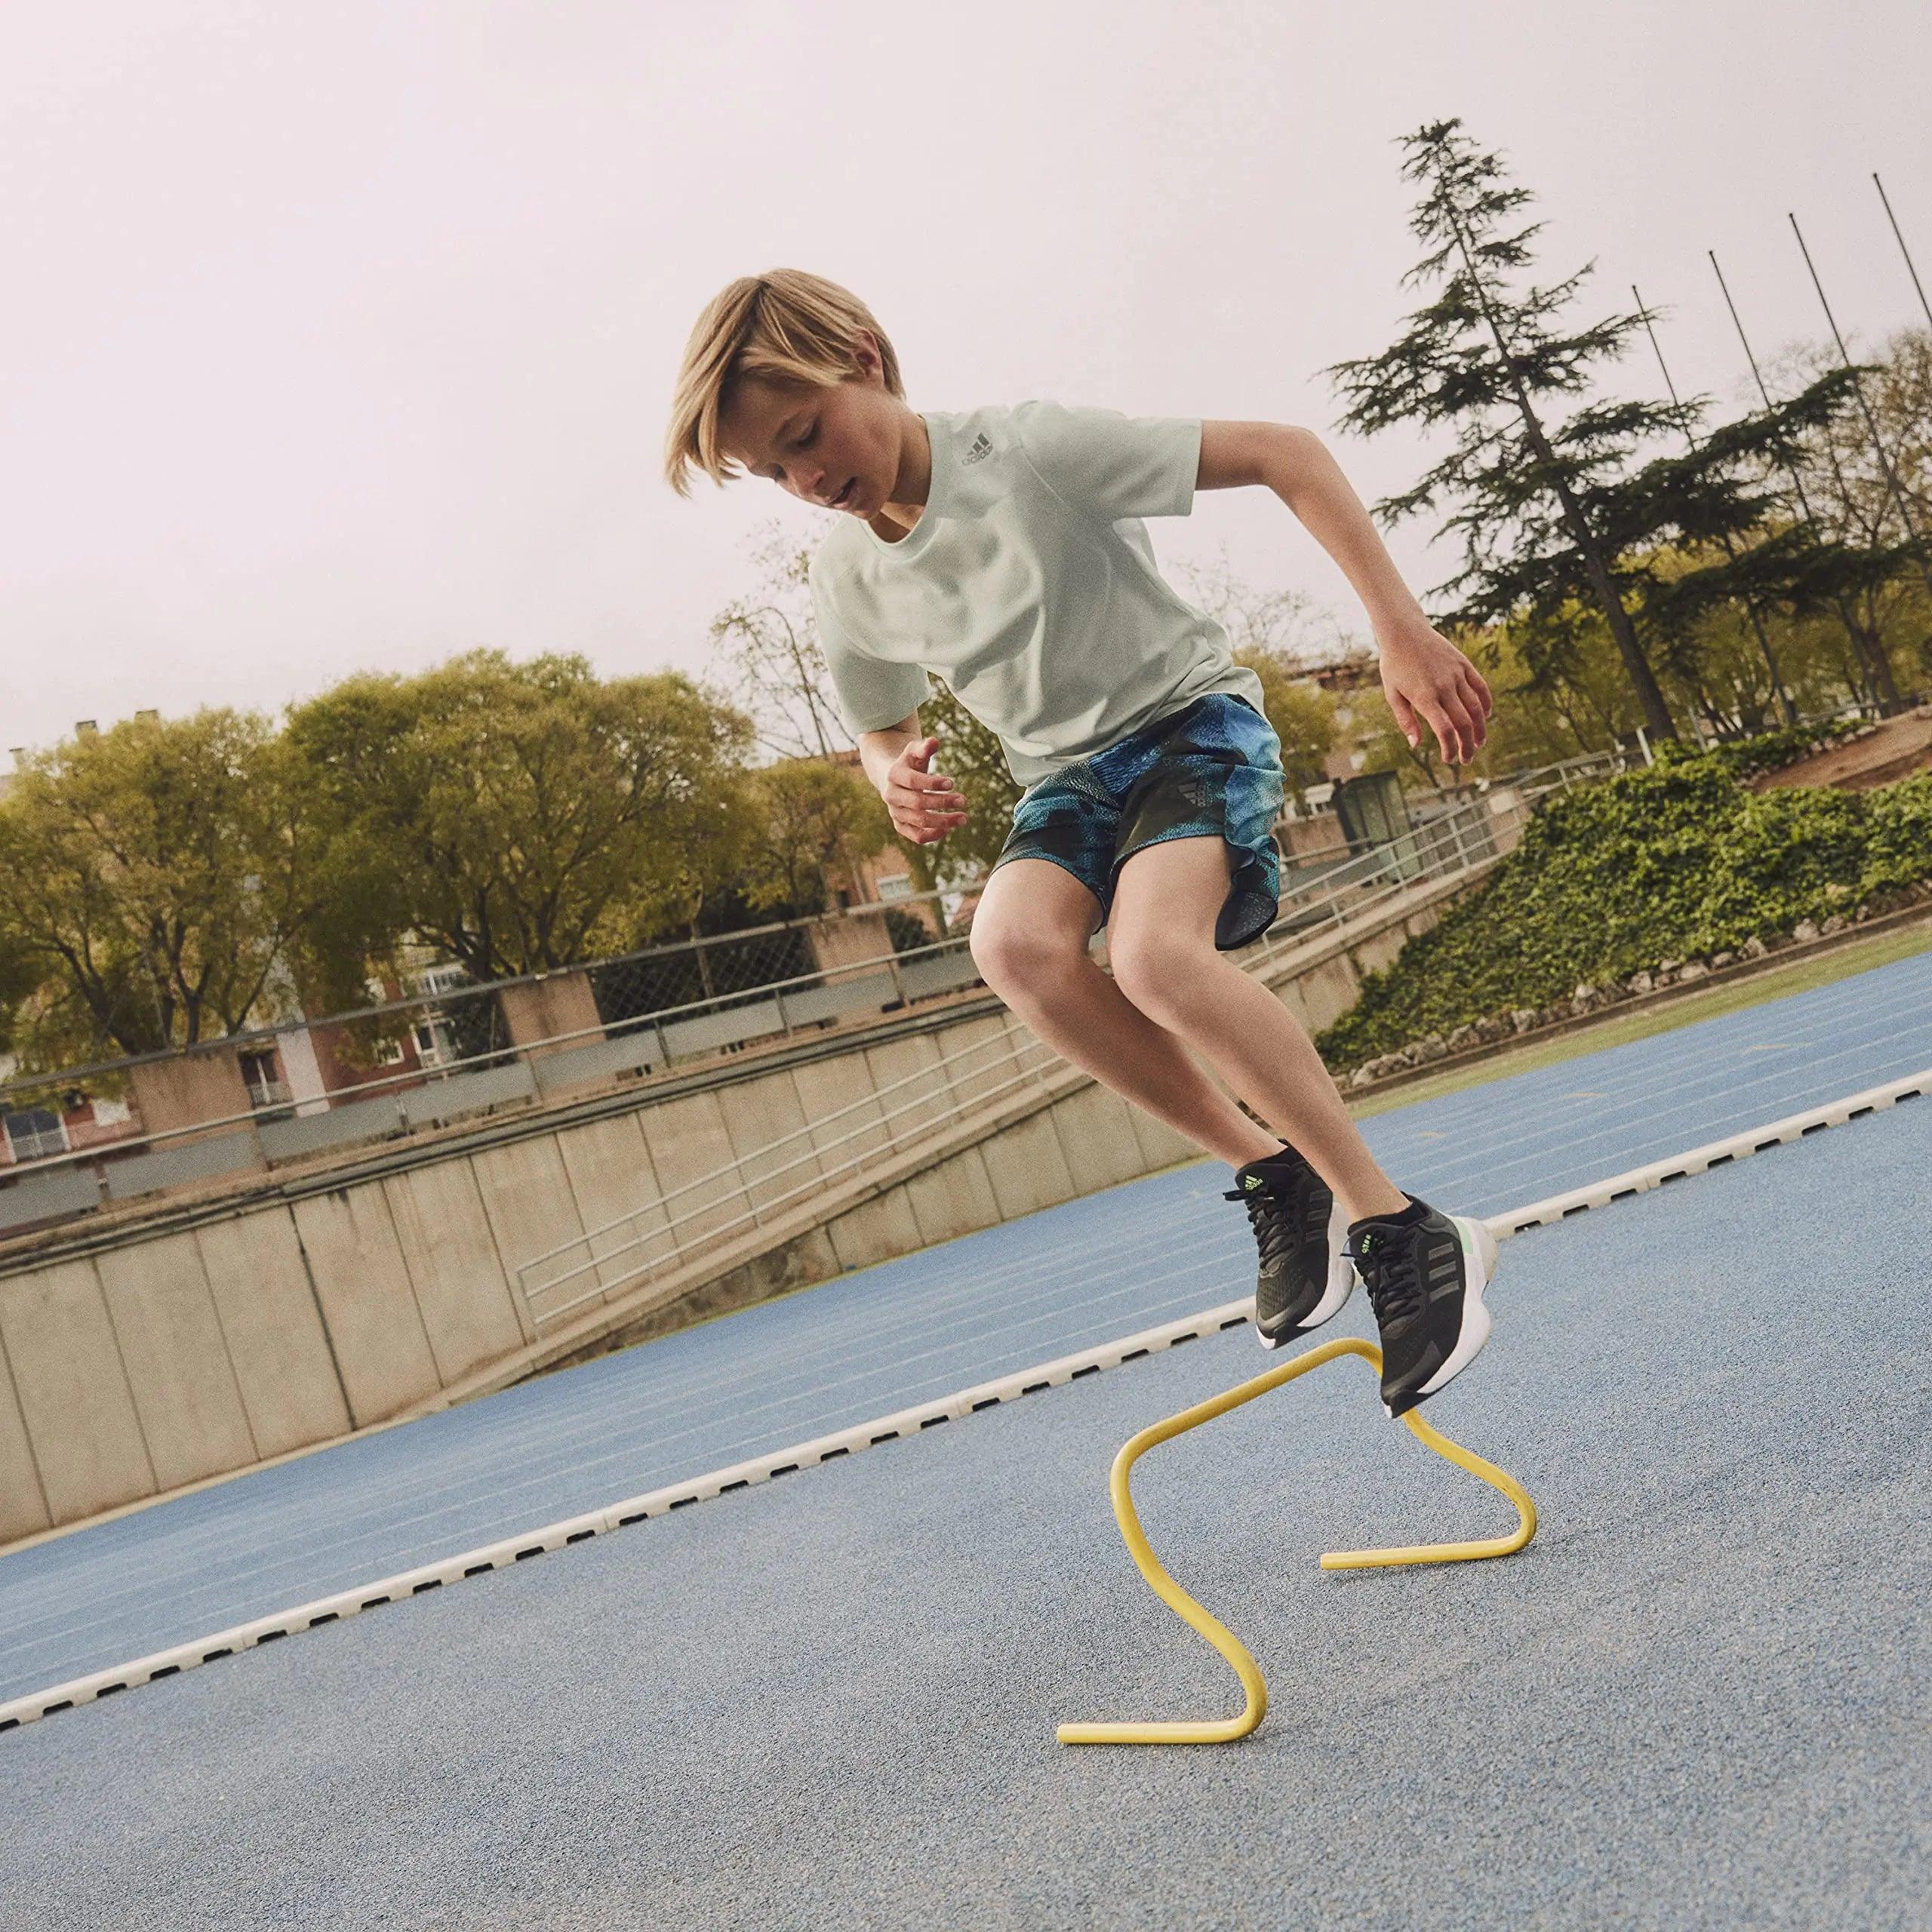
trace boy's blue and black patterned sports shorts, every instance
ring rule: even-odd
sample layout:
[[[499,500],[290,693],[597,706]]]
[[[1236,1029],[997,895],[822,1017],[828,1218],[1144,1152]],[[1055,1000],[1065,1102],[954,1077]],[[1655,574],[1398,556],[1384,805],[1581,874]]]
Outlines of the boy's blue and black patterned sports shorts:
[[[1233,952],[1275,922],[1281,858],[1271,831],[1281,792],[1275,728],[1246,697],[1208,692],[1030,786],[993,869],[1010,858],[1051,860],[1099,900],[1105,925],[1121,866],[1142,846],[1225,838],[1235,877],[1213,943]]]

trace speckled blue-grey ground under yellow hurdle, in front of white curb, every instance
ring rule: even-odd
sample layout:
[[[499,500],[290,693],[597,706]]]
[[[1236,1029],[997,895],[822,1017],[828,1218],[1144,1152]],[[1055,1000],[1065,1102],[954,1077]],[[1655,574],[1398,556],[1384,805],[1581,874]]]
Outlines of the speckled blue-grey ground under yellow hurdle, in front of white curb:
[[[0,1741],[0,1924],[1924,1926],[1932,1103],[1503,1248],[1428,1406],[1356,1362],[1142,1463],[1256,1652],[1236,1704],[1105,1501],[1244,1333],[1028,1397]],[[1362,1298],[1329,1333],[1372,1333]]]

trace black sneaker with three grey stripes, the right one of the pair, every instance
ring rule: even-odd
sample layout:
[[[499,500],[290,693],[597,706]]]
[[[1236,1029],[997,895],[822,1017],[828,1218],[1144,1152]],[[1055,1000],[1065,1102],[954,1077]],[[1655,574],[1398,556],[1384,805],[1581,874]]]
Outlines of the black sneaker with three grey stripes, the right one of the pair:
[[[1476,1360],[1490,1339],[1482,1291],[1495,1275],[1495,1236],[1482,1221],[1437,1213],[1414,1194],[1408,1204],[1349,1229],[1381,1329],[1381,1406],[1391,1416]]]

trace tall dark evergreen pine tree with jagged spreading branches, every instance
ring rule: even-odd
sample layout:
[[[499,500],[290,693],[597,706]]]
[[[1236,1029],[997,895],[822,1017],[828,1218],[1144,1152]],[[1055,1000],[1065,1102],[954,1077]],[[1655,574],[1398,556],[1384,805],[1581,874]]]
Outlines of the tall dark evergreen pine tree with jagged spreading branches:
[[[1551,288],[1519,294],[1511,278],[1530,267],[1528,243],[1544,224],[1503,232],[1534,197],[1509,185],[1501,158],[1476,149],[1461,126],[1443,120],[1403,137],[1403,178],[1424,184],[1410,230],[1430,245],[1403,286],[1439,278],[1441,288],[1391,348],[1323,371],[1349,402],[1341,427],[1374,435],[1399,421],[1455,423],[1455,450],[1414,489],[1376,506],[1387,522],[1455,506],[1445,529],[1463,533],[1466,564],[1434,593],[1459,599],[1439,622],[1549,622],[1565,605],[1594,605],[1646,726],[1673,736],[1638,616],[1652,616],[1646,628],[1662,647],[1681,647],[1683,626],[1700,609],[1745,595],[1808,605],[1855,560],[1789,531],[1739,549],[1694,582],[1665,582],[1648,558],[1671,547],[1737,547],[1762,531],[1776,506],[1750,489],[1752,469],[1789,460],[1808,427],[1845,406],[1851,377],[1835,371],[1785,404],[1704,435],[1689,454],[1648,464],[1638,464],[1638,450],[1665,431],[1683,435],[1702,398],[1588,400],[1557,421],[1548,398],[1586,392],[1592,365],[1619,359],[1654,311],[1559,328],[1557,311],[1594,261]]]

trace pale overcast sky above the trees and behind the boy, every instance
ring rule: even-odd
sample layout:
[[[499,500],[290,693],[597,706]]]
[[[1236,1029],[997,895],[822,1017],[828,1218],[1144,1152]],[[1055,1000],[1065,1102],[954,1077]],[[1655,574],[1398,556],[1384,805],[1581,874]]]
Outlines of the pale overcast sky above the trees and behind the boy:
[[[1320,369],[1418,303],[1397,139],[1463,116],[1667,305],[1679,390],[1839,321],[1922,323],[1920,0],[15,0],[0,12],[0,748],[280,709],[469,645],[703,674],[769,483],[659,479],[732,276],[856,290],[914,408],[1053,396],[1327,433]],[[1648,346],[1619,386],[1656,388]],[[1366,500],[1430,450],[1331,435]],[[1265,491],[1163,558],[1360,611]],[[1389,539],[1424,593],[1455,568]],[[4,769],[4,765],[0,765]]]

